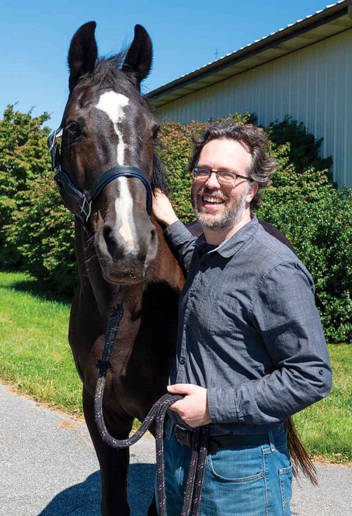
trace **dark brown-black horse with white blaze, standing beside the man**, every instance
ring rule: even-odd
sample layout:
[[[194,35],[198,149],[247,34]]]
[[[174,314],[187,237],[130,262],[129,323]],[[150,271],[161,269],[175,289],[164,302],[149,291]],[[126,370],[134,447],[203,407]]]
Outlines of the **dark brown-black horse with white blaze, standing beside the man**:
[[[143,421],[166,392],[184,278],[162,229],[147,213],[148,185],[167,193],[153,150],[158,122],[140,95],[140,83],[152,64],[152,42],[136,25],[125,57],[99,60],[94,30],[94,22],[86,23],[71,41],[70,93],[62,119],[61,166],[66,175],[61,176],[61,196],[76,215],[79,268],[69,341],[102,474],[102,514],[127,516],[128,450],[109,448],[94,422],[96,363],[102,355],[109,308],[123,284],[124,316],[110,358],[103,409],[109,432],[125,439],[133,419]],[[108,174],[105,187],[97,188],[98,178],[106,178],[106,171],[116,166],[137,170],[139,175],[111,180]],[[91,189],[99,195],[88,202]],[[79,206],[77,199],[83,194]],[[291,427],[289,436],[291,451],[305,466],[304,450]],[[154,500],[148,514],[157,514]]]

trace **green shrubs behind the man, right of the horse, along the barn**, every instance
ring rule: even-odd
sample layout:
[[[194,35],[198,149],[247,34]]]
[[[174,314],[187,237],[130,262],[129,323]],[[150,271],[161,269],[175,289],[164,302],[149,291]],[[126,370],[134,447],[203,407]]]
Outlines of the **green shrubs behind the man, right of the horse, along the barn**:
[[[254,115],[230,117],[255,123]],[[208,123],[164,123],[159,155],[172,186],[172,203],[184,222],[194,219],[187,171],[192,134]],[[295,247],[315,282],[316,305],[329,342],[352,340],[352,197],[329,180],[330,157],[319,155],[315,140],[303,124],[285,117],[263,129],[270,138],[278,166],[272,184],[262,190],[258,217],[275,225]]]

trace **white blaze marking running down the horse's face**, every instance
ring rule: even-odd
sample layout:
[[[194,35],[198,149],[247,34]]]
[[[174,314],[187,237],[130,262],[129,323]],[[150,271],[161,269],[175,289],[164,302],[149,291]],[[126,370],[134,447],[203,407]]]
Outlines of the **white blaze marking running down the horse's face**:
[[[100,95],[97,109],[104,111],[110,118],[115,133],[119,137],[116,158],[119,165],[124,165],[125,161],[125,142],[119,125],[125,118],[124,107],[128,105],[128,97],[115,91],[106,91]],[[135,222],[133,221],[133,201],[128,188],[127,178],[118,178],[120,185],[120,199],[115,200],[115,215],[120,219],[119,232],[124,238],[127,248],[130,251],[137,250],[133,240],[133,232],[136,233]]]

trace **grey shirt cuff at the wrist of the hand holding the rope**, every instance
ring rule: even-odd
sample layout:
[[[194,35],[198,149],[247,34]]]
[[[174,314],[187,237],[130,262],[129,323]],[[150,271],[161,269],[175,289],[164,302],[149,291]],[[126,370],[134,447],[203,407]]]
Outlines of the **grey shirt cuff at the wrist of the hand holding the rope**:
[[[238,421],[234,389],[211,387],[207,389],[209,415],[212,423]]]

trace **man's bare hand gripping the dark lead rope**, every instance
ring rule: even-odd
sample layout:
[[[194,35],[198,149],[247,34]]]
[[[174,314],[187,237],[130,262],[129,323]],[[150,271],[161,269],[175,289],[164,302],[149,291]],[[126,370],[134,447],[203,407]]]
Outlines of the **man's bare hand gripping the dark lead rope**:
[[[211,423],[207,389],[191,383],[167,385],[170,394],[185,394],[185,397],[171,405],[170,409],[178,413],[182,420],[191,427]]]

